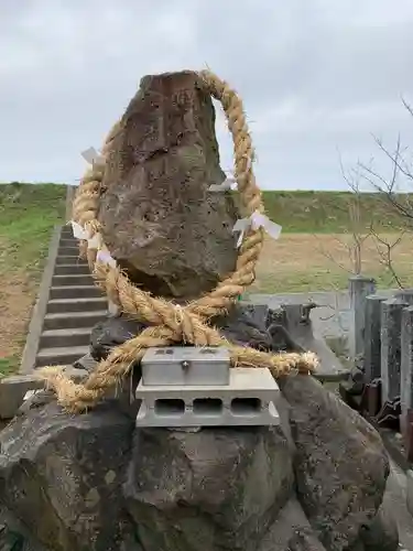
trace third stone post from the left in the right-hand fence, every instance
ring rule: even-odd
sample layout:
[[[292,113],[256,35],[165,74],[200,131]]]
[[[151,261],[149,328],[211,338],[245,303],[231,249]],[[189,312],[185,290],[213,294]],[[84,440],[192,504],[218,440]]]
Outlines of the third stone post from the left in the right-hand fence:
[[[381,400],[400,397],[402,313],[409,304],[389,299],[381,304]]]

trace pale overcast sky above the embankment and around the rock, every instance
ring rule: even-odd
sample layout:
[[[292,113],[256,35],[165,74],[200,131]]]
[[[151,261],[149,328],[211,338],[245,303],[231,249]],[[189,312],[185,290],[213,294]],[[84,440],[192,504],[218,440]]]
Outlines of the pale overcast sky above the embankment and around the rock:
[[[244,100],[262,188],[345,187],[338,152],[413,143],[412,29],[412,0],[1,0],[0,181],[75,183],[143,75],[209,67]]]

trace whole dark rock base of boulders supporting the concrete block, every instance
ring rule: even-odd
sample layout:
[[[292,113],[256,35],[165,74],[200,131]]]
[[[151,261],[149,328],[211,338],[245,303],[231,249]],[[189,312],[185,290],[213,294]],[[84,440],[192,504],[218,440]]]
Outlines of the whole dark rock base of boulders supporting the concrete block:
[[[0,550],[396,551],[377,432],[311,377],[280,385],[270,429],[134,430],[115,400],[28,402],[0,432]]]

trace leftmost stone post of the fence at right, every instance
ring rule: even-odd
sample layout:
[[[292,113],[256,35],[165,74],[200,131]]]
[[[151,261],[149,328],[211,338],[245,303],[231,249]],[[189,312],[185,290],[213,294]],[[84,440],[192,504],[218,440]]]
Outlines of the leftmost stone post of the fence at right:
[[[357,358],[365,352],[366,298],[374,294],[376,281],[365,276],[349,278],[351,327],[349,334],[350,357]]]

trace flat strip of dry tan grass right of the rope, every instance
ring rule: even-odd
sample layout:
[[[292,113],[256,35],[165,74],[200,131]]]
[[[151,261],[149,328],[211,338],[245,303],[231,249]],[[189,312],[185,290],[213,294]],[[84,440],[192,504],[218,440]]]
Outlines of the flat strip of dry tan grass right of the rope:
[[[376,278],[382,288],[396,288],[399,283],[404,288],[413,285],[411,236],[405,235],[400,242],[399,236],[392,234],[381,235],[379,239],[384,242],[370,236],[361,245],[362,273]],[[348,277],[354,273],[351,248],[352,238],[347,235],[284,234],[276,241],[268,239],[253,291],[346,289]]]

